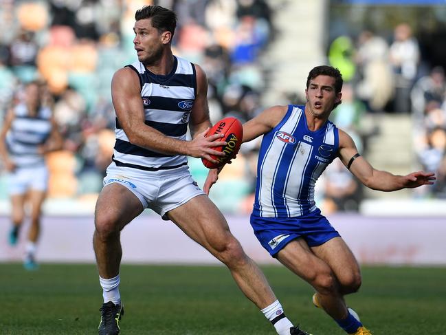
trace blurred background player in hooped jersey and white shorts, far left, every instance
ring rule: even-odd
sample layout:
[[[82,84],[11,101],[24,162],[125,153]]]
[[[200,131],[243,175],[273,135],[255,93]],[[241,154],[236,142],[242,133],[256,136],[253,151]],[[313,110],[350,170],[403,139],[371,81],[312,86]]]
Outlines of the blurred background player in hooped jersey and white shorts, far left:
[[[37,267],[36,243],[48,181],[44,155],[62,146],[52,110],[43,103],[43,90],[37,82],[27,83],[21,102],[8,111],[0,133],[0,154],[8,171],[12,219],[9,242],[12,246],[17,243],[23,224],[25,202],[31,205],[31,225],[23,263],[28,270]]]

